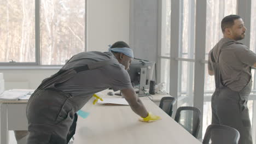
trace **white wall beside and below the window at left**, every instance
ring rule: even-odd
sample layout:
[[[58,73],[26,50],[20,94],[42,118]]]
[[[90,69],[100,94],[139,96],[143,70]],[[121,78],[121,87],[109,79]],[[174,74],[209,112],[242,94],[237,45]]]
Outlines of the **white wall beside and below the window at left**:
[[[130,0],[88,0],[88,50],[107,51],[109,44],[123,40],[129,43]],[[5,90],[35,89],[58,69],[8,69],[4,74]]]

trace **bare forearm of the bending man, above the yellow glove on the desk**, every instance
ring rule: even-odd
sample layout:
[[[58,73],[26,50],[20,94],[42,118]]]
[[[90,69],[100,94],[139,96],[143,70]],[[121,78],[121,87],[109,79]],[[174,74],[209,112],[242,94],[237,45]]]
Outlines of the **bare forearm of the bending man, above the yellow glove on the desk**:
[[[124,98],[131,106],[131,109],[141,117],[147,117],[148,111],[146,107],[143,105],[142,101],[137,97],[134,89],[122,89],[121,93],[124,95]]]

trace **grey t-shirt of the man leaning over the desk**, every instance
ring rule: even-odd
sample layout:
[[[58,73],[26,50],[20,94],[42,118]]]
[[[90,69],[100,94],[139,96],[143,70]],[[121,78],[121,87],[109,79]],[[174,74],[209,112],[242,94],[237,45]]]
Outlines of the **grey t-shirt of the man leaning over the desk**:
[[[112,64],[96,69],[81,71],[66,82],[57,86],[57,89],[72,95],[72,101],[80,109],[94,93],[113,88],[114,91],[132,88],[130,76],[111,52],[81,52],[73,56],[62,69],[80,67],[85,64],[99,61],[109,61]]]

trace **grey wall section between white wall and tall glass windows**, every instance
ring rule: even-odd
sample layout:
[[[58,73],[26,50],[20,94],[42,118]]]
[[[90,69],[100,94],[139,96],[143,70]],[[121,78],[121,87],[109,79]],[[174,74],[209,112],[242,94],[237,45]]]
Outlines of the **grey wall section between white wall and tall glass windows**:
[[[135,58],[156,61],[159,1],[130,1],[130,45],[134,49]]]

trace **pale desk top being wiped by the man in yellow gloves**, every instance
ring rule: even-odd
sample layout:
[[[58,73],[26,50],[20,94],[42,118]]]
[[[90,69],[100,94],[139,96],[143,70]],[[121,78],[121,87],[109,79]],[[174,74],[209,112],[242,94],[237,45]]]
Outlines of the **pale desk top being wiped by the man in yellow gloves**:
[[[90,99],[82,108],[90,112],[90,115],[85,119],[78,118],[74,144],[201,143],[153,101],[147,97],[140,99],[148,111],[161,116],[162,119],[153,123],[140,122],[139,116],[131,110],[130,106],[92,105],[93,99]]]

